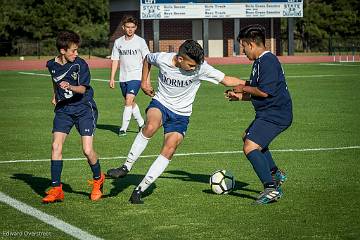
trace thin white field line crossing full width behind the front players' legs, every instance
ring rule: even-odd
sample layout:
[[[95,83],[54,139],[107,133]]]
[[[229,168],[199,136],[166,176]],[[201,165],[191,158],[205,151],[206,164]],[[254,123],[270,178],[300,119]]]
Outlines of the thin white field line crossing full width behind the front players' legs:
[[[360,146],[348,146],[348,147],[333,147],[333,148],[300,148],[300,149],[271,149],[271,152],[318,152],[318,151],[336,151],[336,150],[349,150],[349,149],[360,149]],[[237,154],[243,151],[222,151],[222,152],[193,152],[193,153],[175,153],[174,156],[196,156],[196,155],[217,155],[217,154]],[[152,158],[157,157],[159,154],[154,155],[143,155],[140,158]],[[116,157],[101,157],[101,160],[112,160],[112,159],[126,159],[126,156]],[[64,161],[79,161],[85,160],[85,158],[64,158]],[[20,162],[47,162],[50,159],[27,159],[27,160],[9,160],[0,161],[1,163],[20,163]]]

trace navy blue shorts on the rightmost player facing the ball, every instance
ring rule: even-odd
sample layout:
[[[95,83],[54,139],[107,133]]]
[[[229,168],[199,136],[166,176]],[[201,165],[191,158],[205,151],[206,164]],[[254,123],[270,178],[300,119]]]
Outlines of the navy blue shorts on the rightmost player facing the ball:
[[[249,139],[262,148],[269,146],[272,140],[289,126],[276,125],[263,119],[255,119],[245,130],[245,139]]]

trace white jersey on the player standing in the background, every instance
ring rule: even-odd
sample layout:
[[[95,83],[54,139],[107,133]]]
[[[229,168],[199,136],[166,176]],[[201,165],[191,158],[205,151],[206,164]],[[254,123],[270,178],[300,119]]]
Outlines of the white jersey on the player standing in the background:
[[[130,40],[116,39],[111,60],[120,60],[120,82],[141,80],[143,59],[149,53],[145,40],[136,34]]]

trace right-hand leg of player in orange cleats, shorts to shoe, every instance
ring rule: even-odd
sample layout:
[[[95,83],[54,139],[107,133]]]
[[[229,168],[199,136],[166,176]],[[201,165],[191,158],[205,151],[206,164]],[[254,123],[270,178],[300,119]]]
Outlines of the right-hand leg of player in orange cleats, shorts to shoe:
[[[90,182],[93,185],[90,199],[96,201],[102,196],[102,187],[105,181],[105,174],[101,173],[100,162],[93,145],[98,111],[94,101],[82,104],[78,108],[79,111],[75,126],[81,136],[84,156],[87,158],[93,173],[93,180]]]

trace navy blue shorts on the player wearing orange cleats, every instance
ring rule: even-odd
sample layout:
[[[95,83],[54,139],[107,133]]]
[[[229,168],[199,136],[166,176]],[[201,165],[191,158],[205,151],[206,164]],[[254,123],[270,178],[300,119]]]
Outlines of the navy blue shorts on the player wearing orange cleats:
[[[52,132],[69,134],[71,128],[75,125],[81,136],[93,136],[97,117],[98,111],[94,101],[79,105],[65,105],[55,109]]]

